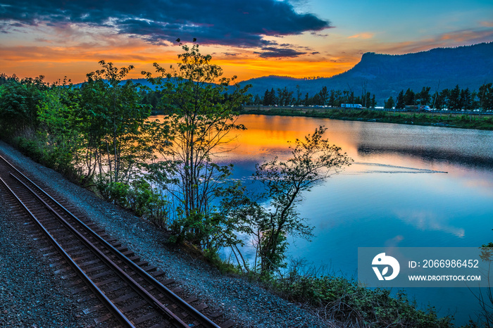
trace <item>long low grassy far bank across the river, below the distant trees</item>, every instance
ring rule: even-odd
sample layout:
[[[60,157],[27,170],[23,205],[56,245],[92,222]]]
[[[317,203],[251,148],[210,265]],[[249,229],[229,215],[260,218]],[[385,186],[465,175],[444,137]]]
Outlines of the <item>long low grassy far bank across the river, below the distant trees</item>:
[[[493,116],[458,113],[418,113],[401,111],[373,111],[351,108],[298,108],[273,106],[244,106],[240,114],[303,116],[354,120],[363,122],[397,123],[462,129],[493,130]]]

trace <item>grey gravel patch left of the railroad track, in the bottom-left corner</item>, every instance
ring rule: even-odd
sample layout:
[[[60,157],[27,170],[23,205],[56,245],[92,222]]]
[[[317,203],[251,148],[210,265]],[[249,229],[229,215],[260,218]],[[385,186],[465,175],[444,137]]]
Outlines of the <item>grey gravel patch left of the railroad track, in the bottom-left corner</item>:
[[[26,233],[28,222],[0,200],[0,327],[91,326],[68,282],[54,275],[40,243]]]

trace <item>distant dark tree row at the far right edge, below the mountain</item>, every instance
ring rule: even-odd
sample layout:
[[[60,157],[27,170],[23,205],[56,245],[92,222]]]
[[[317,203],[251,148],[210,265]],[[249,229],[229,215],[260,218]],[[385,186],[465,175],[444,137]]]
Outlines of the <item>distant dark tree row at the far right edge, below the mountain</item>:
[[[395,97],[385,101],[385,108],[404,109],[406,106],[425,105],[431,108],[450,111],[475,110],[490,111],[493,109],[493,83],[485,83],[478,91],[471,92],[469,88],[461,89],[458,84],[454,89],[443,89],[430,94],[430,87],[423,87],[420,92],[407,89],[401,90]]]

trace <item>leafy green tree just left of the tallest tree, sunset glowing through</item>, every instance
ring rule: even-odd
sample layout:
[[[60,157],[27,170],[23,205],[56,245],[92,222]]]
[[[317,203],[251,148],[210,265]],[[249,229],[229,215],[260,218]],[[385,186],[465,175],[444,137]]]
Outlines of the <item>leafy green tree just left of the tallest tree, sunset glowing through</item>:
[[[134,67],[116,68],[100,61],[101,70],[87,74],[82,86],[81,131],[85,134],[87,169],[96,165],[101,179],[128,182],[132,170],[152,156],[142,137],[150,106],[142,103],[139,86],[123,79]]]

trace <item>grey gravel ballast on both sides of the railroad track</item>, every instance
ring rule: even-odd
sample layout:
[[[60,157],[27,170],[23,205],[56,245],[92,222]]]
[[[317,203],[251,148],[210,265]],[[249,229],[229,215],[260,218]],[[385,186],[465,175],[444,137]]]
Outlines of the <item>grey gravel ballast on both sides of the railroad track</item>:
[[[50,182],[52,188],[58,191],[58,196],[79,207],[82,213],[106,229],[108,234],[120,239],[122,244],[135,251],[143,260],[161,267],[188,294],[222,310],[227,317],[237,322],[237,327],[336,327],[320,321],[307,310],[271,294],[261,286],[251,284],[242,277],[221,275],[210,265],[167,246],[164,244],[165,234],[153,225],[101,201],[91,192],[68,182],[57,172],[32,162],[3,142],[0,142],[0,153],[30,172],[32,177],[46,184]],[[12,267],[0,265],[0,325],[85,326],[87,318],[79,318],[81,309],[70,303],[73,296],[68,288],[57,282],[49,270],[44,269],[44,263],[37,260],[32,249],[19,246],[21,243],[17,238],[20,227],[8,221],[8,213],[1,202],[0,220],[0,260],[7,257],[16,259]],[[16,270],[15,275],[12,275],[13,270]],[[32,272],[36,274],[32,275]],[[33,304],[32,296],[39,303]],[[53,318],[56,318],[56,322],[51,321]],[[15,324],[6,324],[8,320],[14,320]]]

